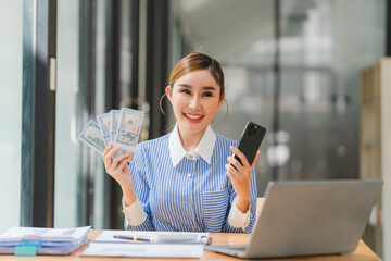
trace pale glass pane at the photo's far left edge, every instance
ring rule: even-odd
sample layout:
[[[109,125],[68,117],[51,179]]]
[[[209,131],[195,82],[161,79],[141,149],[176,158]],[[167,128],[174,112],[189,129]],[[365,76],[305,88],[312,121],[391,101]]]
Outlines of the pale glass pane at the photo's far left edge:
[[[8,1],[0,9],[0,233],[20,225],[22,2]]]

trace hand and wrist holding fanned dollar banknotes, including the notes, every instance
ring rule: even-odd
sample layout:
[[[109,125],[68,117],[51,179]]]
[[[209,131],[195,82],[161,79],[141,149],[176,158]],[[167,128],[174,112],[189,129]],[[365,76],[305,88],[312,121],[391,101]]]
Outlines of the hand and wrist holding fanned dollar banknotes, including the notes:
[[[130,170],[141,132],[143,112],[127,108],[97,115],[98,124],[90,121],[79,140],[102,154],[106,173],[122,187],[125,206],[137,200]]]

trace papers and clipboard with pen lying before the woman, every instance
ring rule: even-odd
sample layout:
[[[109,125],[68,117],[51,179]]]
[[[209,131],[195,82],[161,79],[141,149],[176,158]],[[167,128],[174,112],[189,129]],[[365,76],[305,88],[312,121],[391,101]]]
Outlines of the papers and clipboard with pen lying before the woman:
[[[104,231],[83,256],[201,258],[209,233]]]

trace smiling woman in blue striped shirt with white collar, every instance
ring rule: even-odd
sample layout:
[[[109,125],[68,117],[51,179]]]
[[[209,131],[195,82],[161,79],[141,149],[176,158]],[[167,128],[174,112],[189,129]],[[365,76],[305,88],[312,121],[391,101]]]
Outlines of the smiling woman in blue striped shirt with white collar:
[[[119,151],[113,145],[102,154],[124,194],[125,228],[250,233],[260,152],[250,165],[238,141],[210,126],[225,97],[220,64],[188,54],[175,65],[165,95],[176,117],[172,133],[140,142],[129,167],[130,154],[112,160]]]

